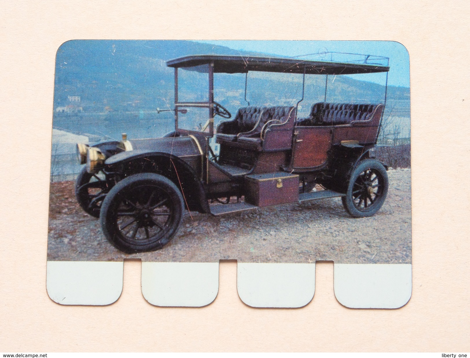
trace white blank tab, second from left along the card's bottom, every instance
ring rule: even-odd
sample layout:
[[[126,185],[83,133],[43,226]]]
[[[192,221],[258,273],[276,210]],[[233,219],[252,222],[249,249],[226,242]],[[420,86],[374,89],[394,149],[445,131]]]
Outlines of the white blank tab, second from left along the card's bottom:
[[[142,262],[142,295],[156,306],[202,307],[219,292],[219,262]]]

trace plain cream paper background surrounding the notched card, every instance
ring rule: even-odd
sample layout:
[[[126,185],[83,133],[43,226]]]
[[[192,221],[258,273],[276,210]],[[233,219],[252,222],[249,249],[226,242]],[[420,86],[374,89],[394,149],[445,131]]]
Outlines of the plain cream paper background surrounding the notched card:
[[[0,4],[0,351],[469,351],[469,6],[466,1],[11,1]],[[397,310],[337,302],[332,263],[313,301],[253,309],[220,265],[199,309],[157,308],[140,261],[106,307],[46,292],[55,51],[70,39],[396,40],[410,53],[413,294]]]

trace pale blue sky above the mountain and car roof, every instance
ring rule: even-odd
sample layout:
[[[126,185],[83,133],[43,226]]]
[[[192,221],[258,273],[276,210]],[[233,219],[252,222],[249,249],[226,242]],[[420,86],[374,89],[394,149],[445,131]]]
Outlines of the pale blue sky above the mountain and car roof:
[[[390,86],[409,87],[409,56],[407,49],[395,41],[304,41],[304,40],[198,40],[197,42],[226,46],[235,50],[247,50],[296,56],[320,52],[349,52],[371,54],[390,58],[388,84]],[[363,81],[385,84],[383,73],[354,75]]]

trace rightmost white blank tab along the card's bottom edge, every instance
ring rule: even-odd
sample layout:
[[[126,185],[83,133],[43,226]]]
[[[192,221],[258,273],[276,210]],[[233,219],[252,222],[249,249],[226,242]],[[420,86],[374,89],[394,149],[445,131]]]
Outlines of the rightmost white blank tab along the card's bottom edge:
[[[411,297],[410,264],[335,264],[335,296],[350,308],[399,308]]]

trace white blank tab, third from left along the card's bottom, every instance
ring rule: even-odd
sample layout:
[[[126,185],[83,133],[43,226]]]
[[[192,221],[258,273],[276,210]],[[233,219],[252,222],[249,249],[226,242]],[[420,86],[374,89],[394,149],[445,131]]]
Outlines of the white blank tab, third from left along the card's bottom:
[[[315,293],[315,264],[237,264],[237,289],[251,307],[296,308]]]

